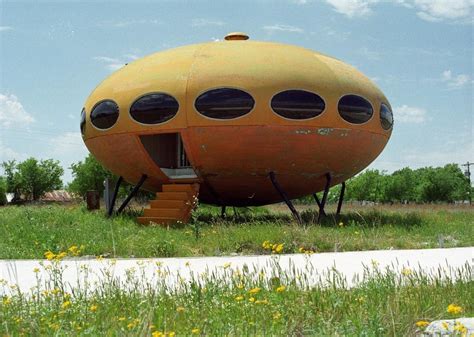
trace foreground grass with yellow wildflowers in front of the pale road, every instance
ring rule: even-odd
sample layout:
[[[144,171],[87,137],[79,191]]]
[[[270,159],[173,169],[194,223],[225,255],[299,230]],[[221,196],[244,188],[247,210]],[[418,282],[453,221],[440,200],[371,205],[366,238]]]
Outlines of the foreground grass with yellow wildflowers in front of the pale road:
[[[261,277],[259,270],[237,273],[228,268],[225,274],[199,275],[176,289],[160,277],[143,281],[140,268],[122,281],[126,289],[104,276],[87,293],[67,293],[55,262],[47,269],[54,280],[49,291],[32,289],[25,295],[0,282],[0,293],[13,291],[0,296],[0,335],[414,336],[419,320],[474,315],[468,264],[435,276],[370,267],[354,288],[334,271],[325,283],[310,287],[307,274],[273,268],[272,277]],[[157,275],[165,272],[156,269]],[[448,313],[450,304],[462,312]]]

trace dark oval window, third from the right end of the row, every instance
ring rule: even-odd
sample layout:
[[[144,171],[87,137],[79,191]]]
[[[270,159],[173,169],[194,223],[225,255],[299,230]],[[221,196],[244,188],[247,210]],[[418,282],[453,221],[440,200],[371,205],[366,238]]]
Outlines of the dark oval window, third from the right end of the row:
[[[320,115],[325,108],[323,99],[309,91],[286,90],[273,96],[273,111],[289,119],[308,119]]]

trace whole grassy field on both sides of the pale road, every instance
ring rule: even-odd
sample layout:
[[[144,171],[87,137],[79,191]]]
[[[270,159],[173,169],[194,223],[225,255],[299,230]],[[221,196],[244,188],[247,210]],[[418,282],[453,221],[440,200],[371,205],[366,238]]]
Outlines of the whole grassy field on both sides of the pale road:
[[[474,245],[469,207],[349,205],[321,225],[311,208],[299,208],[303,226],[281,205],[230,210],[225,220],[219,209],[201,206],[191,224],[176,228],[137,225],[135,210],[108,219],[83,205],[0,208],[0,258],[44,258],[48,252],[51,261],[42,268],[52,282],[47,290],[23,294],[0,280],[0,293],[12,293],[0,298],[0,335],[415,336],[431,320],[474,315],[470,265],[436,275],[373,265],[353,288],[336,271],[324,286],[310,287],[305,274],[275,269],[264,278],[262,271],[229,268],[224,276],[197,275],[179,289],[159,277],[143,281],[137,266],[127,290],[105,274],[96,290],[68,293],[55,258],[61,252],[65,258],[165,257]],[[158,276],[165,272],[156,268]]]

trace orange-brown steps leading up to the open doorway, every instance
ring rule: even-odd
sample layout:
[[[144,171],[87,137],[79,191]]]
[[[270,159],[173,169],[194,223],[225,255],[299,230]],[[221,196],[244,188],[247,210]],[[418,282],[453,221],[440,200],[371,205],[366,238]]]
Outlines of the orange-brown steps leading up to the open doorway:
[[[162,192],[156,193],[156,199],[150,201],[137,221],[142,225],[152,223],[168,226],[179,222],[186,223],[191,217],[199,195],[199,184],[166,184]]]

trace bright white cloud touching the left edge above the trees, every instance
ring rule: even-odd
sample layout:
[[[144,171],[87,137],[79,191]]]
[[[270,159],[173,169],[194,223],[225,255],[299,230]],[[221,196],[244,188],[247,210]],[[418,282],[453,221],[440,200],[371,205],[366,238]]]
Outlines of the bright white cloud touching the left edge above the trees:
[[[11,94],[0,94],[0,126],[25,127],[35,119],[25,111],[18,97]]]

